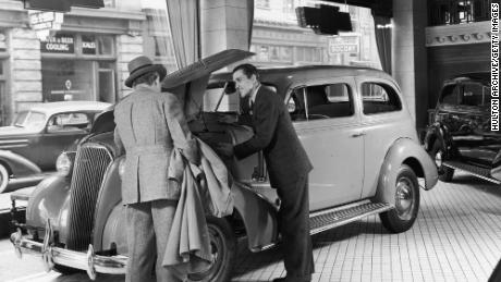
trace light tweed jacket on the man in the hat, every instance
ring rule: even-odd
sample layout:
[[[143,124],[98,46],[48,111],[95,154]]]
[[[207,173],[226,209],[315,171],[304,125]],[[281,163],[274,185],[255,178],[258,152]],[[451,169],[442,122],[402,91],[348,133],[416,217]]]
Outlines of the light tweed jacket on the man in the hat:
[[[168,181],[172,149],[179,148],[191,162],[197,163],[196,140],[187,127],[178,98],[139,86],[114,109],[114,142],[125,149],[122,176],[124,204],[156,199],[178,199],[180,186]]]

